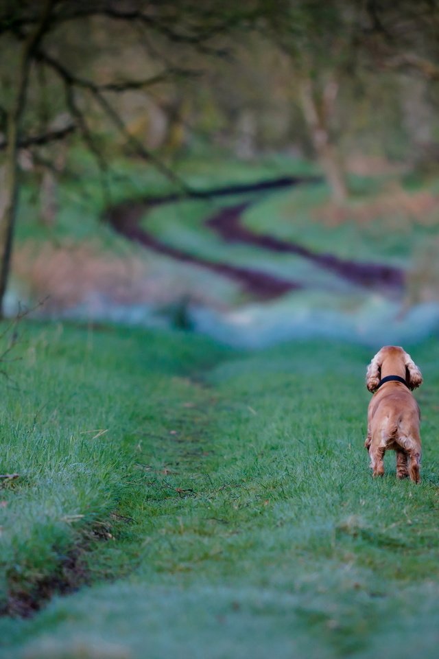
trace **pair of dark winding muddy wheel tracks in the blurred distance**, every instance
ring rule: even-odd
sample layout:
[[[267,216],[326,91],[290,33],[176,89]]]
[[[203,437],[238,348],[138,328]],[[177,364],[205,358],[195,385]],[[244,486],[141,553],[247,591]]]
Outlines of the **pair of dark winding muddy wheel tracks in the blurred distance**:
[[[283,176],[270,181],[260,181],[259,183],[228,185],[209,190],[189,191],[185,192],[185,194],[177,192],[167,196],[141,198],[140,200],[127,201],[108,208],[105,213],[105,219],[117,233],[125,235],[129,240],[139,242],[157,253],[167,255],[179,261],[202,266],[219,275],[231,277],[239,281],[248,292],[256,297],[270,299],[279,297],[292,290],[298,290],[302,288],[302,284],[270,275],[262,270],[212,262],[208,259],[187,253],[177,247],[161,242],[161,240],[158,240],[154,235],[149,233],[147,229],[143,229],[141,227],[141,219],[147,211],[150,211],[156,206],[173,202],[178,203],[185,199],[209,200],[232,194],[270,192],[292,185],[316,183],[319,180],[318,178]],[[244,243],[276,253],[298,255],[357,286],[376,289],[390,296],[398,294],[403,289],[404,273],[400,268],[375,263],[356,262],[351,259],[340,259],[332,254],[315,253],[296,242],[281,240],[268,234],[256,233],[247,229],[241,224],[241,218],[244,211],[252,203],[252,200],[246,200],[239,204],[226,206],[208,217],[205,224],[228,243]]]

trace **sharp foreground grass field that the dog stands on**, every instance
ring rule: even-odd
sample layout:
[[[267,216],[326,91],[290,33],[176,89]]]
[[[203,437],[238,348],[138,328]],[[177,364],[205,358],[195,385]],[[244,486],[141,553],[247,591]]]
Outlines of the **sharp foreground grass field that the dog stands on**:
[[[82,587],[3,616],[2,659],[437,656],[436,338],[410,347],[416,487],[391,456],[370,477],[370,350],[20,332],[1,404],[1,474],[19,474],[0,493],[3,608]]]

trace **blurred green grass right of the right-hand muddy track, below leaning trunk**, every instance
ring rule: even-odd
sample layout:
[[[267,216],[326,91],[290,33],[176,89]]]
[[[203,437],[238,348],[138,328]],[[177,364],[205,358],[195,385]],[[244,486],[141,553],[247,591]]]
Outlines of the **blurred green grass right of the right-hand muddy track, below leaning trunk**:
[[[408,178],[400,183],[407,194],[421,190],[434,196],[438,194],[435,180],[415,185]],[[318,215],[324,211],[325,205],[331,204],[329,189],[324,183],[297,187],[266,198],[246,213],[245,224],[253,231],[298,242],[317,253],[407,266],[416,246],[437,235],[437,209],[429,222],[413,218],[410,209],[405,211],[404,207],[397,210],[397,207],[378,205],[374,209],[379,194],[385,193],[385,185],[385,180],[372,177],[353,178],[353,194],[346,203],[345,218],[337,225],[325,223]],[[391,200],[391,189],[388,196]],[[368,217],[357,220],[355,212],[361,208],[366,210]],[[431,212],[424,213],[428,214],[431,216]]]

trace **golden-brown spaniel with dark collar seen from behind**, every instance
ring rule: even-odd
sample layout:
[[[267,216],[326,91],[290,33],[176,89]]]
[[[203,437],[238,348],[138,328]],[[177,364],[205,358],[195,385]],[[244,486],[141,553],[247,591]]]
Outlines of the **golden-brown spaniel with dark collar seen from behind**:
[[[383,476],[385,451],[396,451],[396,476],[419,483],[419,407],[410,393],[423,383],[420,370],[401,347],[386,345],[372,359],[366,386],[374,395],[368,408],[369,451],[374,476]],[[408,460],[408,465],[407,465]]]

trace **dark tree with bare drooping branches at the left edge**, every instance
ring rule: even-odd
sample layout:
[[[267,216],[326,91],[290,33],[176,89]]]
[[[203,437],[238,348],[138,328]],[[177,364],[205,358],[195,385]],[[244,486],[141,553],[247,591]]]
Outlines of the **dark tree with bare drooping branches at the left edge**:
[[[0,2],[0,38],[3,62],[18,62],[7,78],[0,104],[0,130],[4,156],[3,203],[0,209],[0,313],[8,285],[14,224],[19,199],[19,152],[32,150],[43,166],[54,170],[41,154],[41,148],[76,133],[91,151],[102,173],[104,194],[108,194],[108,163],[102,152],[96,126],[108,122],[119,132],[126,146],[152,163],[174,183],[182,182],[147,150],[128,130],[115,95],[144,90],[193,73],[189,53],[215,54],[215,36],[224,34],[233,23],[233,14],[220,8],[200,8],[195,1],[180,0],[15,0]],[[86,64],[97,61],[103,49],[115,50],[117,36],[136,41],[144,47],[145,68],[150,75],[134,78],[129,71],[119,72],[105,82],[84,73]],[[87,39],[84,41],[84,34]],[[66,54],[67,36],[76,40],[80,56]],[[14,54],[13,57],[7,55]],[[17,56],[18,54],[18,56]],[[6,56],[5,56],[6,55]],[[9,66],[9,65],[8,65]],[[89,67],[92,68],[92,67]],[[126,67],[130,69],[131,67]],[[137,67],[139,68],[139,67]],[[55,106],[36,121],[35,101],[47,95],[52,86]],[[29,95],[32,94],[32,103]],[[62,126],[56,118],[64,117]],[[101,117],[99,120],[97,117]],[[35,132],[35,124],[39,124]]]

